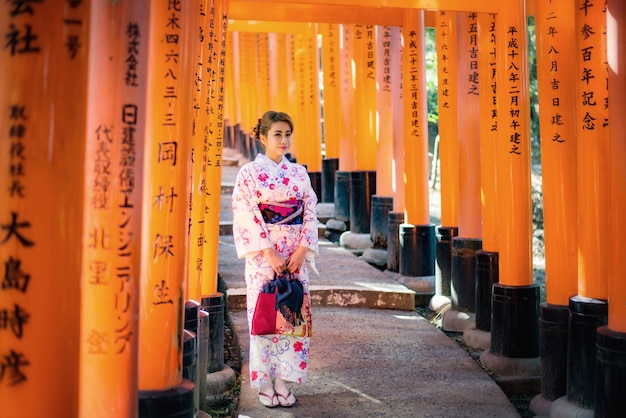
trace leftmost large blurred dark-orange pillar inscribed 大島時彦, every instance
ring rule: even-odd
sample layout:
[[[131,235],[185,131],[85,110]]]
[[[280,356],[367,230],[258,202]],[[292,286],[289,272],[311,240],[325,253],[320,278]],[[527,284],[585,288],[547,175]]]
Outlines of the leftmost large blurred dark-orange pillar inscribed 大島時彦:
[[[89,5],[0,27],[0,416],[78,417]]]

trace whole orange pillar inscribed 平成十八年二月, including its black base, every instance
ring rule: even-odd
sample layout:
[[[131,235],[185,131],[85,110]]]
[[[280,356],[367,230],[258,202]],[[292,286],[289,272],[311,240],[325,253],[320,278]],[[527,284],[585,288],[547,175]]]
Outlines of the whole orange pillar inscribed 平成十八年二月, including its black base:
[[[499,283],[493,286],[491,349],[481,356],[492,367],[490,360],[502,357],[510,361],[533,358],[539,365],[539,287],[533,284],[531,248],[527,36],[525,2],[502,7],[496,17]]]

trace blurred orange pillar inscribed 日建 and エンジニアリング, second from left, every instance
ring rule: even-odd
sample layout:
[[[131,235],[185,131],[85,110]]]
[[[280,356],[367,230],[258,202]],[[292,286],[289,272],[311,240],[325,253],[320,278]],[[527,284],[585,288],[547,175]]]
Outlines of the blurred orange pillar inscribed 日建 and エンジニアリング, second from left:
[[[147,10],[91,6],[79,416],[137,411]]]

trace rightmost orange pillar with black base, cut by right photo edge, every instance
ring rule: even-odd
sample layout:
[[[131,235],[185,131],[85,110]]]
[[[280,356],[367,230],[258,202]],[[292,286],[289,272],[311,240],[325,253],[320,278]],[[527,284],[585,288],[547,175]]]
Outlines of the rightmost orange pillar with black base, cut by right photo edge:
[[[596,354],[595,413],[621,416],[626,413],[622,392],[626,385],[626,258],[624,231],[626,220],[626,8],[621,1],[608,1],[607,58],[609,65],[609,311],[608,326],[598,328]]]

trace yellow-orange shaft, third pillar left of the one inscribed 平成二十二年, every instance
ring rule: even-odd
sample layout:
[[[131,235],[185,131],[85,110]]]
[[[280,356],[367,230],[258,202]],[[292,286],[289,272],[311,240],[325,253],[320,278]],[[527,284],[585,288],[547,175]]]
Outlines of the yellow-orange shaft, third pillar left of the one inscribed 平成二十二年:
[[[376,170],[376,28],[354,25],[356,169]]]

